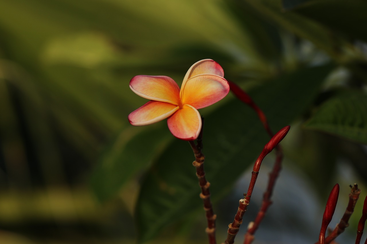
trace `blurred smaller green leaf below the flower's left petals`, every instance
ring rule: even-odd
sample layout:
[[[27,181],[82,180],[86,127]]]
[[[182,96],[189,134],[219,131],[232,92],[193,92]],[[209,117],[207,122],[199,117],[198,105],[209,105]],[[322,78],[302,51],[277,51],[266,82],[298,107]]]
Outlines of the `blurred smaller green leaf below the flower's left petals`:
[[[161,122],[141,131],[124,129],[105,149],[91,174],[91,188],[100,201],[105,201],[139,171],[145,170],[174,137]]]

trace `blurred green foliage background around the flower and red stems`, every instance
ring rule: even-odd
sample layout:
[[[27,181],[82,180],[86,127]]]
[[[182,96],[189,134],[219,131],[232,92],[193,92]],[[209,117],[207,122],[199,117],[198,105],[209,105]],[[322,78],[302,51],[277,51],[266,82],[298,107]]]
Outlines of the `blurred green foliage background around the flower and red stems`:
[[[328,193],[361,197],[338,243],[354,243],[367,194],[367,2],[362,0],[1,0],[0,243],[207,243],[189,144],[165,121],[134,127],[135,75],[181,84],[214,59],[282,142],[284,163],[254,244],[315,243]],[[224,241],[269,140],[232,94],[200,110]],[[274,161],[260,170],[236,243]],[[364,236],[364,238],[366,238]]]

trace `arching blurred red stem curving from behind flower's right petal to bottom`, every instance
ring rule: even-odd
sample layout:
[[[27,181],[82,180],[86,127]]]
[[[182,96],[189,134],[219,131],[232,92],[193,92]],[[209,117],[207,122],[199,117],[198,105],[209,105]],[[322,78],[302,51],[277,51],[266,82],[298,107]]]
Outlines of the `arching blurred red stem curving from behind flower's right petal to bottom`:
[[[254,103],[254,101],[251,99],[250,96],[247,95],[246,92],[244,92],[239,86],[237,86],[235,83],[228,81],[230,90],[235,94],[235,96],[246,103],[248,106],[250,106],[258,115],[260,121],[264,125],[264,128],[266,132],[268,132],[269,136],[273,136],[273,132],[270,130],[270,126],[268,123],[268,120],[266,119],[266,116],[264,112]],[[262,204],[260,207],[260,210],[253,222],[251,222],[251,226],[247,229],[247,232],[245,234],[245,240],[244,244],[250,244],[254,240],[254,234],[256,230],[258,229],[262,219],[265,216],[266,211],[268,210],[269,206],[272,204],[271,196],[273,195],[273,189],[275,186],[276,179],[279,175],[279,172],[281,170],[281,162],[283,160],[283,152],[281,150],[280,145],[276,147],[276,159],[275,164],[273,166],[272,171],[269,174],[269,181],[268,186],[266,188],[266,192],[264,193]]]

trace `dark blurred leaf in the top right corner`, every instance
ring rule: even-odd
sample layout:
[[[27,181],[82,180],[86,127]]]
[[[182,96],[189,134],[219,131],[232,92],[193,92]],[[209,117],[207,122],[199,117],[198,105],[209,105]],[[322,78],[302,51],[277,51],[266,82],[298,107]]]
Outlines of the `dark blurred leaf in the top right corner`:
[[[312,0],[292,12],[313,19],[331,30],[367,41],[367,2],[364,0]]]

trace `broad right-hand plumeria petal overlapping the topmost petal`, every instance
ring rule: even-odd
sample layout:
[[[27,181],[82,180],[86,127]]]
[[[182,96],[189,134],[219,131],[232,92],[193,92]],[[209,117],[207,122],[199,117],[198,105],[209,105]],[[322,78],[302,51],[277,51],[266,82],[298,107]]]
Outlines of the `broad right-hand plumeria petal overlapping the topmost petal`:
[[[196,109],[207,107],[225,97],[229,84],[219,75],[202,74],[190,78],[181,89],[182,104],[190,104]]]

